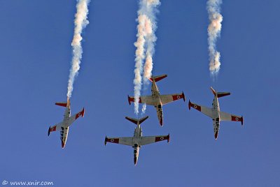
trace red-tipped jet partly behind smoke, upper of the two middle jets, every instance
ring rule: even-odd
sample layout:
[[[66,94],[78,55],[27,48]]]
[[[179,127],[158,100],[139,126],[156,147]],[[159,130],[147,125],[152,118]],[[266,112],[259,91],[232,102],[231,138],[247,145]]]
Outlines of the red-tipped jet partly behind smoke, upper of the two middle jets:
[[[146,103],[146,105],[153,105],[155,107],[155,110],[157,110],[158,114],[158,120],[160,121],[160,126],[163,125],[163,114],[162,114],[162,105],[165,105],[167,103],[171,103],[175,100],[179,100],[183,98],[185,101],[185,94],[182,93],[174,93],[170,95],[160,95],[160,91],[158,90],[158,86],[155,82],[158,82],[162,79],[167,77],[167,75],[160,75],[151,77],[150,80],[153,83],[152,84],[152,96],[140,96],[139,97],[139,103]],[[128,103],[134,102],[135,98],[128,96]]]

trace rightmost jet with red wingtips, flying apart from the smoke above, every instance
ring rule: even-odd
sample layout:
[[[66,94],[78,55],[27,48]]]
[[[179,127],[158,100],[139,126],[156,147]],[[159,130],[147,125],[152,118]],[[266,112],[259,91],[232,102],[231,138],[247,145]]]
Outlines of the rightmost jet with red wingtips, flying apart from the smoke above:
[[[210,89],[214,93],[214,100],[212,103],[212,108],[197,105],[195,103],[191,103],[189,100],[188,109],[190,110],[190,107],[193,107],[196,110],[202,112],[203,114],[205,114],[208,117],[211,117],[211,119],[213,119],[214,135],[215,135],[215,139],[217,140],[218,130],[220,128],[220,121],[240,121],[241,125],[243,126],[243,117],[242,116],[239,117],[234,114],[228,114],[228,113],[220,111],[218,98],[221,98],[223,96],[229,96],[230,92],[217,92],[212,87]]]

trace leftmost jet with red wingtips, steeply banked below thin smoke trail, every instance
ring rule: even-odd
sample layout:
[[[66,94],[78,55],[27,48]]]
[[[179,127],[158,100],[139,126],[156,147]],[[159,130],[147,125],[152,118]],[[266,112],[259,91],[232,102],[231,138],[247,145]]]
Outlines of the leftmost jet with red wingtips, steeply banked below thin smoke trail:
[[[74,114],[73,116],[71,116],[69,98],[67,98],[67,102],[59,102],[59,103],[55,103],[55,105],[66,107],[65,112],[64,112],[64,119],[59,124],[55,124],[54,126],[48,128],[48,136],[50,135],[50,132],[59,130],[60,131],[60,140],[62,141],[62,149],[64,149],[66,141],[67,141],[68,132],[69,132],[69,126],[71,126],[71,124],[73,124],[73,122],[76,119],[78,119],[78,117],[80,117],[80,116],[83,117],[83,115],[85,114],[85,108],[83,108],[83,110],[78,112],[77,114]]]

